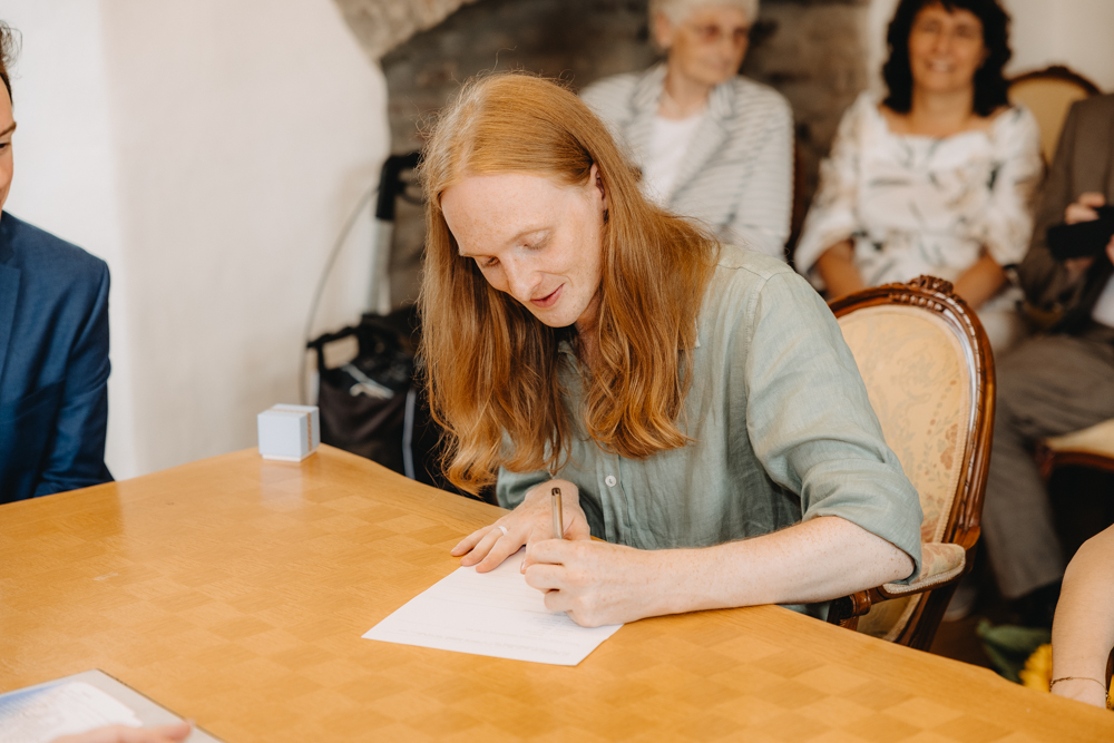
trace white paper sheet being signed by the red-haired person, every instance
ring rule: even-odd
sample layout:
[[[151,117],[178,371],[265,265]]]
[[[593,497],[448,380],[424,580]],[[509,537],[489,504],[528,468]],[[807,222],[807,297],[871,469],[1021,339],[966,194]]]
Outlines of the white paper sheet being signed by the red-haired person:
[[[519,573],[524,551],[490,573],[462,567],[363,636],[385,643],[575,666],[623,625],[582,627],[546,608]]]

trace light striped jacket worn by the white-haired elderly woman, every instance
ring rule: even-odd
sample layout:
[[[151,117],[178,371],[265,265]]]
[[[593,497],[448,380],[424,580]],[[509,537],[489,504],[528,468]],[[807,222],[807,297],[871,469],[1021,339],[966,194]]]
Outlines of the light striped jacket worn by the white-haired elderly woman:
[[[645,163],[665,65],[589,85],[580,97],[627,157]],[[772,88],[735,77],[712,89],[688,145],[670,208],[696,218],[726,243],[784,258],[793,199],[793,115]]]

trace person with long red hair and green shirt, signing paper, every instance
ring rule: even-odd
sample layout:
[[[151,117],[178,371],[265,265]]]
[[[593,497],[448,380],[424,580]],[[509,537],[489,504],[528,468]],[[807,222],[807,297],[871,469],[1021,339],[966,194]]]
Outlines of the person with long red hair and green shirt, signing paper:
[[[544,79],[466,86],[420,175],[421,359],[446,471],[514,509],[457,545],[463,565],[525,546],[546,605],[593,626],[769,603],[820,615],[917,576],[917,493],[792,270],[648,203],[604,125]]]

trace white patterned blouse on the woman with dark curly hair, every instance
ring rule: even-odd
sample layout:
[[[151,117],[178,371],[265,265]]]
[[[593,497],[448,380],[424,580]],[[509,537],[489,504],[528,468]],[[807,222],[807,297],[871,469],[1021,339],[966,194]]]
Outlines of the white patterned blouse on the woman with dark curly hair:
[[[821,165],[797,267],[822,289],[817,258],[849,237],[868,286],[920,274],[955,281],[984,251],[1003,266],[1019,263],[1043,172],[1039,129],[1022,106],[986,130],[934,138],[890,131],[878,99],[863,92]]]

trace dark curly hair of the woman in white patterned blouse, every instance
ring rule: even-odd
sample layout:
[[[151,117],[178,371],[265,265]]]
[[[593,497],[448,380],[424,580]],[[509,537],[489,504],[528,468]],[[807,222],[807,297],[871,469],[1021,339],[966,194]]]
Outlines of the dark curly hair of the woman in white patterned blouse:
[[[975,113],[989,116],[999,106],[1009,104],[1009,85],[1001,75],[1013,52],[1009,50],[1009,16],[998,0],[901,0],[893,12],[886,43],[890,58],[882,67],[882,78],[889,95],[882,102],[898,114],[908,114],[912,106],[912,70],[909,67],[909,35],[917,13],[926,6],[941,4],[950,13],[968,10],[983,21],[983,45],[987,57],[975,71]]]

